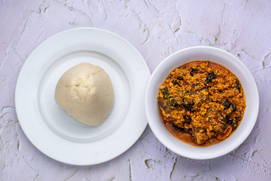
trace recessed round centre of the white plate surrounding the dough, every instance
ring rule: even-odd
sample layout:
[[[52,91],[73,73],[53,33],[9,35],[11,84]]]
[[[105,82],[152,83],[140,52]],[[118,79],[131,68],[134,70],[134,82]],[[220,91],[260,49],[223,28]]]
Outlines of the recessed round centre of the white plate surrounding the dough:
[[[97,126],[83,124],[55,102],[55,86],[61,75],[69,68],[88,62],[102,67],[109,75],[114,89],[114,103],[105,121]],[[120,65],[111,57],[92,50],[68,53],[49,66],[43,75],[38,91],[39,112],[52,132],[75,142],[94,142],[113,133],[126,117],[130,104],[128,78]]]

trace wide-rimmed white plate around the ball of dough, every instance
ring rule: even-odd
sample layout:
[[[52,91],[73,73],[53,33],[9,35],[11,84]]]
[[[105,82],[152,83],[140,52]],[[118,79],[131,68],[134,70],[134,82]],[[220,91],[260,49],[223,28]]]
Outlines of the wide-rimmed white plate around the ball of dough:
[[[54,99],[58,79],[81,62],[101,66],[113,84],[111,113],[98,126],[78,122]],[[27,138],[49,157],[74,165],[102,163],[130,148],[144,131],[149,78],[140,53],[120,36],[96,28],[63,31],[24,63],[15,90],[17,117]]]

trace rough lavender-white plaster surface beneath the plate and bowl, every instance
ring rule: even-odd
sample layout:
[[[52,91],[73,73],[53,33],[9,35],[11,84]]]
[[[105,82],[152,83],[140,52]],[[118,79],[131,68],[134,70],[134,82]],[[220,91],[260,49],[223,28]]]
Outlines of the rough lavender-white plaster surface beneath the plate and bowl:
[[[0,0],[0,180],[270,180],[270,9],[268,0]],[[211,160],[174,154],[148,126],[128,151],[103,164],[73,166],[47,157],[20,128],[15,84],[33,49],[74,27],[117,33],[139,50],[151,72],[188,46],[215,46],[232,53],[248,67],[259,89],[260,112],[253,131],[240,147]]]

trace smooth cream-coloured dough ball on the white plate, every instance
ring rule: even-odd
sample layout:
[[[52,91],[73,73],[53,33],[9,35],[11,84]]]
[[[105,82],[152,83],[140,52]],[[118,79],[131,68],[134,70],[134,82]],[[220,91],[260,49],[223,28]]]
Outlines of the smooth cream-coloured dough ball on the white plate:
[[[78,121],[99,125],[113,106],[112,82],[101,67],[80,63],[59,79],[55,87],[55,101]]]

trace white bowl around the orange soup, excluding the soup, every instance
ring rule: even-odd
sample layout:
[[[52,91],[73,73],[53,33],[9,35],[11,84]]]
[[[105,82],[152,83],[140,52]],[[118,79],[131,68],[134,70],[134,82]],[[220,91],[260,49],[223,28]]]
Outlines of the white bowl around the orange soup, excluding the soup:
[[[236,131],[225,141],[207,147],[192,146],[175,138],[162,123],[157,103],[159,87],[169,73],[186,62],[197,60],[216,62],[232,71],[242,84],[247,105],[244,117]],[[259,92],[248,68],[235,56],[210,46],[193,46],[168,56],[154,70],[146,89],[145,111],[154,135],[171,151],[188,158],[211,159],[234,150],[251,133],[259,112]]]

